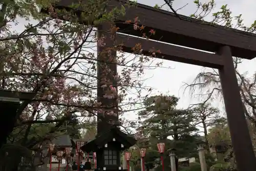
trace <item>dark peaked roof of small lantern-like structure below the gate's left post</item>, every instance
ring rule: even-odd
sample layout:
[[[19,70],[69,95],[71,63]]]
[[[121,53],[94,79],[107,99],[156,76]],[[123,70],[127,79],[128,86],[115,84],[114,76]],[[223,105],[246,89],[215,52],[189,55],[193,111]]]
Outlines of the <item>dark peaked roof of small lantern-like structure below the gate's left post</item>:
[[[134,137],[125,134],[125,132],[121,131],[115,126],[112,127],[110,130],[103,132],[103,134],[97,135],[94,140],[88,142],[87,144],[84,144],[81,147],[81,150],[87,153],[91,151],[96,151],[98,148],[101,148],[106,143],[112,141],[113,138],[115,138],[117,142],[123,144],[125,149],[130,148],[137,142]]]

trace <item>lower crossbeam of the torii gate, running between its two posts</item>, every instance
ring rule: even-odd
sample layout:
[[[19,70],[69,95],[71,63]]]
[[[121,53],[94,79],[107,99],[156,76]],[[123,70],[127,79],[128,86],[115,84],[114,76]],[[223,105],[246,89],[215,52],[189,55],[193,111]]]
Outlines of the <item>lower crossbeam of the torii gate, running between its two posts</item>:
[[[156,53],[155,58],[217,69],[222,68],[224,65],[223,56],[218,54],[205,53],[194,49],[159,43],[151,40],[139,39],[137,37],[126,36],[122,34],[117,34],[116,40],[118,44],[123,44],[122,50],[128,53],[134,53],[132,48],[135,44],[140,43],[143,49],[142,53],[144,55],[152,55],[152,52],[150,52],[152,48],[160,49],[161,53]]]

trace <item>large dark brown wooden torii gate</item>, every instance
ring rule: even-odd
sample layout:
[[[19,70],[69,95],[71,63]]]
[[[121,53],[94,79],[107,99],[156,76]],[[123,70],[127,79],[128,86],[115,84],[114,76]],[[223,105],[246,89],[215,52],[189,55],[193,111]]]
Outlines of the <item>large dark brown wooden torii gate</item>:
[[[86,1],[84,2],[86,3]],[[67,8],[72,3],[72,1],[62,0],[58,2],[58,5],[55,7]],[[121,5],[125,3],[127,3],[127,1],[112,0],[106,8],[107,10],[111,10],[111,7],[121,7]],[[126,20],[139,17],[139,24],[145,26],[145,32],[151,29],[156,31],[156,34],[151,37],[153,40],[215,52],[215,54],[161,42],[146,41],[117,32],[116,40],[119,43],[123,43],[123,51],[131,52],[135,44],[140,43],[144,54],[149,52],[152,48],[160,49],[161,55],[156,56],[156,58],[162,58],[162,56],[164,56],[163,59],[165,60],[218,69],[237,166],[240,171],[256,170],[256,159],[253,153],[240,97],[240,88],[232,61],[232,56],[249,60],[256,56],[256,35],[218,25],[211,25],[206,22],[203,23],[202,21],[182,15],[177,17],[174,13],[142,4],[137,4],[136,6],[137,7],[127,9],[125,16],[117,17],[115,24],[120,28],[120,32],[142,36],[138,31],[133,29],[132,25],[124,24]],[[108,26],[108,24],[102,24],[98,29],[108,32],[109,28],[110,26]],[[108,38],[105,43],[107,47],[113,45]],[[98,48],[98,52],[102,50],[103,48]],[[116,65],[111,66],[114,73],[116,72],[116,67]],[[98,70],[98,77],[101,77],[100,70]],[[102,97],[103,94],[100,83],[98,87],[98,96]],[[117,121],[118,116],[116,118],[112,117],[106,119]],[[98,134],[106,129],[107,126],[108,125],[103,122],[98,122]]]

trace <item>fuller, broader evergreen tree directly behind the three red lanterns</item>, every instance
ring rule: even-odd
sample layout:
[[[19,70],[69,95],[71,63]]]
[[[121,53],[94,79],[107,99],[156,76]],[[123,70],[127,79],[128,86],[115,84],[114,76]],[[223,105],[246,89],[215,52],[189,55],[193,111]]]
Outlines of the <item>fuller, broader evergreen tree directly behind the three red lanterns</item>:
[[[165,143],[164,156],[167,159],[167,150],[171,148],[177,149],[179,157],[197,155],[197,128],[193,124],[193,113],[177,109],[178,100],[174,96],[153,96],[145,101],[145,110],[139,113],[140,118],[145,119],[142,127],[153,147],[157,149],[158,142]]]

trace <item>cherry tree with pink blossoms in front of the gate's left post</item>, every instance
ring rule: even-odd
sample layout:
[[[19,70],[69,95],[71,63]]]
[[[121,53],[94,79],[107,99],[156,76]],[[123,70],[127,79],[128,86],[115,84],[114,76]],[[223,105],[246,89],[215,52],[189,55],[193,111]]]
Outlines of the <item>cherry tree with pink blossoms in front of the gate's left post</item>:
[[[115,35],[119,28],[113,24],[108,32],[97,33],[97,26],[114,23],[114,16],[125,13],[123,6],[106,12],[107,5],[108,1],[101,0],[75,4],[83,11],[78,17],[72,11],[54,8],[48,0],[0,3],[0,88],[34,93],[34,98],[20,104],[8,143],[33,148],[56,136],[61,125],[74,117],[89,122],[102,113],[100,119],[104,120],[105,115],[135,110],[129,106],[142,103],[147,95],[142,96],[141,90],[150,93],[152,89],[145,87],[142,76],[144,69],[154,67],[153,57],[160,50],[145,56],[141,45],[135,44],[133,55],[128,57],[122,45],[115,42],[102,52],[108,60],[99,63],[97,44],[106,46],[107,36]],[[135,30],[143,31],[138,17],[126,21],[127,25],[131,23]],[[154,30],[144,36],[149,39],[152,34]],[[111,51],[118,51],[117,56]],[[113,75],[109,63],[121,66],[121,72]],[[99,67],[103,68],[102,74],[108,73],[114,80],[99,78]],[[119,104],[117,109],[110,110],[98,101],[97,82],[103,98],[114,99],[113,103]],[[127,99],[132,89],[137,90],[133,91],[135,98]],[[36,124],[45,124],[47,129],[36,135],[32,131]]]

